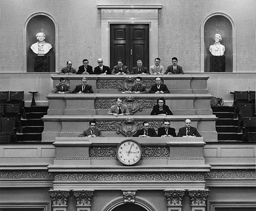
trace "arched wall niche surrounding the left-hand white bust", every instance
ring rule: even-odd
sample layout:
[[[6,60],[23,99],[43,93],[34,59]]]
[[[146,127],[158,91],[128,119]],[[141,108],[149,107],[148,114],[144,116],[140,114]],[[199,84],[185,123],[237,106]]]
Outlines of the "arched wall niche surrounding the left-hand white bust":
[[[58,27],[56,21],[48,14],[35,13],[25,22],[24,26],[24,72],[55,72],[58,70]],[[45,54],[48,59],[48,69],[42,71],[34,69],[35,54],[30,46],[37,42],[35,35],[43,32],[45,41],[52,45],[52,49]]]

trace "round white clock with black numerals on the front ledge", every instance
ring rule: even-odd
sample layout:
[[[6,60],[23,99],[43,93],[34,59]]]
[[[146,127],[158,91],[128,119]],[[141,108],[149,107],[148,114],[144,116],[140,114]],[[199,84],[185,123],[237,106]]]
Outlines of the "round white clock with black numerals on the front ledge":
[[[124,140],[117,146],[116,157],[124,165],[134,165],[142,157],[141,145],[134,140]]]

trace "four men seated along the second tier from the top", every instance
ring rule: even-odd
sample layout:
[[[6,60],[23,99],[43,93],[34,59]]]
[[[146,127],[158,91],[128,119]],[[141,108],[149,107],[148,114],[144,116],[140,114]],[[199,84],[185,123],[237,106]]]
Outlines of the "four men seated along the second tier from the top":
[[[55,85],[54,93],[93,93],[92,86],[87,84],[86,77],[81,79],[81,84],[76,85],[74,90],[71,89],[70,84],[66,83],[66,79],[64,77],[60,77],[60,83]],[[155,84],[150,87],[148,91],[146,86],[141,83],[142,77],[136,77],[136,83],[131,86],[129,91],[125,91],[125,93],[170,93],[166,84],[161,83],[161,78],[155,78]]]

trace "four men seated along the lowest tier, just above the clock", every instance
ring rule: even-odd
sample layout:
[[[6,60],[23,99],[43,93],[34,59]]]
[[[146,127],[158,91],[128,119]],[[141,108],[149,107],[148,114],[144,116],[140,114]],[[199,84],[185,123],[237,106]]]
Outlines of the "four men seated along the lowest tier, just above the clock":
[[[189,119],[185,120],[185,127],[179,129],[176,135],[175,129],[170,127],[170,121],[164,120],[163,127],[158,128],[158,134],[154,128],[150,128],[149,122],[143,122],[143,129],[138,130],[133,137],[201,137],[197,128],[191,126]],[[96,122],[90,121],[89,128],[84,130],[79,137],[104,137],[101,129],[96,128]]]

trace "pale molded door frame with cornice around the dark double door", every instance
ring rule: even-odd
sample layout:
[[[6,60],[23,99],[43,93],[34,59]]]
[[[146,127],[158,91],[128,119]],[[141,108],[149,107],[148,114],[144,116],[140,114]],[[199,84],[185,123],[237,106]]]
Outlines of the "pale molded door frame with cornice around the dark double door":
[[[97,8],[101,10],[101,58],[106,65],[110,64],[110,24],[149,24],[149,63],[158,57],[161,5],[97,5]]]

